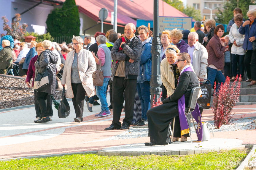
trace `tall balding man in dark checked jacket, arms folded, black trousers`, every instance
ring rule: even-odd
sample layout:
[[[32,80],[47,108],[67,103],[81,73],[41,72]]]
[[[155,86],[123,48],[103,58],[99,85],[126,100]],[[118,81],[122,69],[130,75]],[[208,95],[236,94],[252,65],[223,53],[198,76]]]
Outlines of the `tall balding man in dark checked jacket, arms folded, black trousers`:
[[[133,104],[139,75],[142,43],[135,36],[136,26],[133,23],[125,25],[124,40],[119,38],[112,50],[112,75],[113,79],[113,121],[105,130],[129,129],[133,118]],[[119,122],[122,112],[123,92],[125,96],[125,118],[123,124]],[[121,126],[122,125],[122,126]]]

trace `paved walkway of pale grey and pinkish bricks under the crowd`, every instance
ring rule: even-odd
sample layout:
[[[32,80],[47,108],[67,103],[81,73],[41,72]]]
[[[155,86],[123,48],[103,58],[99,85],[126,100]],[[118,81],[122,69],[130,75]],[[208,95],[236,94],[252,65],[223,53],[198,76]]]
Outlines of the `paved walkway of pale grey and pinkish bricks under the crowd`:
[[[109,102],[109,94],[107,95]],[[84,108],[84,122],[74,122],[74,107],[71,101],[70,115],[60,119],[54,109],[53,121],[34,123],[34,107],[17,107],[9,111],[0,110],[0,159],[23,156],[66,154],[74,152],[97,151],[117,145],[150,142],[149,137],[131,139],[114,138],[126,130],[105,131],[112,122],[112,114],[95,117],[101,106],[93,106],[93,112]],[[53,107],[54,108],[54,107]],[[235,106],[234,118],[256,117],[256,105]],[[121,120],[124,118],[124,112]],[[213,120],[211,109],[203,111],[203,121]],[[192,138],[196,138],[192,134]],[[214,132],[212,138],[239,139],[245,144],[256,143],[256,129],[231,132]]]

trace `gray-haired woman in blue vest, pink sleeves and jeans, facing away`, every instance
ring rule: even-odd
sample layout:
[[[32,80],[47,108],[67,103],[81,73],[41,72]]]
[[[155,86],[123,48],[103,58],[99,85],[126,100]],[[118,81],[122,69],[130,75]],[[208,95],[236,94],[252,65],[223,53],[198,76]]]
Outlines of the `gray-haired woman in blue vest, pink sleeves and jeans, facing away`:
[[[96,88],[96,95],[101,101],[101,112],[99,114],[96,114],[95,116],[97,117],[103,117],[103,116],[108,116],[110,115],[110,111],[108,108],[108,103],[106,99],[106,90],[107,86],[109,83],[109,79],[111,76],[111,51],[106,45],[106,37],[104,35],[99,35],[96,38],[97,44],[98,44],[98,52],[97,55],[95,56],[95,53],[92,52],[93,57],[97,63],[97,65],[101,65],[101,69],[104,71],[103,72],[103,85],[102,86],[97,86]],[[89,102],[89,101],[88,101]],[[88,106],[89,103],[87,102]],[[90,103],[92,106],[92,104]],[[89,107],[91,107],[89,106]]]

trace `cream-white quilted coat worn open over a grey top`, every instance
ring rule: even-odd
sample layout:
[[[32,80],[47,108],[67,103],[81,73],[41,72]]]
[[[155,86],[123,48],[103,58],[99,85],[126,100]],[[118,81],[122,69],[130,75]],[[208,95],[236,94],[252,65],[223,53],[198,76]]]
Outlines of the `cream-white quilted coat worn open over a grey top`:
[[[70,51],[67,55],[63,69],[61,84],[67,86],[67,98],[74,98],[74,93],[71,87],[71,67],[74,60],[75,50]],[[93,87],[92,74],[96,70],[96,62],[92,53],[88,50],[81,49],[77,55],[78,71],[83,88],[89,97],[95,95]]]

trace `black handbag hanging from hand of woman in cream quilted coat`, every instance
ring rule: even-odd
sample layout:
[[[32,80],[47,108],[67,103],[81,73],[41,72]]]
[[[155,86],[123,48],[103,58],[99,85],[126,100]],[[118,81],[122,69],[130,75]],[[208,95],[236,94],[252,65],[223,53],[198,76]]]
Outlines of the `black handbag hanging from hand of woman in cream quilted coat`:
[[[65,97],[65,88],[63,87],[62,89],[62,97],[61,97],[61,101],[58,107],[58,116],[59,118],[65,118],[69,116],[69,111],[70,111],[70,107],[69,107],[69,102],[67,101],[66,97]]]

